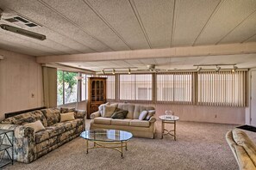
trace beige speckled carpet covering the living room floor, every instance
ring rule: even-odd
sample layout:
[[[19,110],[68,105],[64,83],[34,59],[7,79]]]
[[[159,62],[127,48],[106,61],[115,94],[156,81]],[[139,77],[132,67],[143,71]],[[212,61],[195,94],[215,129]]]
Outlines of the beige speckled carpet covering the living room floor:
[[[156,139],[132,138],[123,159],[112,149],[91,149],[86,155],[85,141],[78,137],[37,161],[30,164],[15,162],[4,169],[238,169],[225,140],[226,132],[234,127],[179,121],[178,137],[174,141],[172,137],[159,139],[158,121]],[[255,142],[256,133],[246,132]]]

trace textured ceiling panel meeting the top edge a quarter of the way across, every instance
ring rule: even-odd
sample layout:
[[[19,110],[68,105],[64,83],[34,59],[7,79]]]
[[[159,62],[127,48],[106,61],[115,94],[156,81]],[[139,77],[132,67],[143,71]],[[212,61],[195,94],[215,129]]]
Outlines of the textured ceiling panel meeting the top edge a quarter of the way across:
[[[114,33],[82,0],[43,0],[61,15],[78,24],[86,33],[100,40],[115,51],[129,50],[128,46]],[[75,11],[74,11],[75,9]]]

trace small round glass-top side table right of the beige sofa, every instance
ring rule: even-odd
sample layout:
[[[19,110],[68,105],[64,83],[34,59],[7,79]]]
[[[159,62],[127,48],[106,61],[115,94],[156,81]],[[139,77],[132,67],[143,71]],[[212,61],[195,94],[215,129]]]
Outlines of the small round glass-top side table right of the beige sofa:
[[[162,120],[162,133],[161,138],[163,138],[164,135],[171,135],[174,137],[174,140],[176,141],[176,121],[178,121],[178,116],[174,115],[161,115],[159,118]],[[174,129],[171,131],[168,131],[165,129],[165,124],[173,124]],[[173,134],[172,134],[173,131]],[[166,133],[165,133],[166,132]]]

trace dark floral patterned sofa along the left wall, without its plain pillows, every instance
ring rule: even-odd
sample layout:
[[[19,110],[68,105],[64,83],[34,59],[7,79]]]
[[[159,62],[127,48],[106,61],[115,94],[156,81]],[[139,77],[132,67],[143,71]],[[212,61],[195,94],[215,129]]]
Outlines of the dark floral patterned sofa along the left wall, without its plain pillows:
[[[66,112],[74,112],[75,119],[59,122],[60,113]],[[15,131],[14,160],[29,163],[78,137],[85,128],[85,114],[74,108],[35,110],[3,119],[0,129]],[[37,120],[41,120],[45,130],[34,133],[33,128],[24,126]]]

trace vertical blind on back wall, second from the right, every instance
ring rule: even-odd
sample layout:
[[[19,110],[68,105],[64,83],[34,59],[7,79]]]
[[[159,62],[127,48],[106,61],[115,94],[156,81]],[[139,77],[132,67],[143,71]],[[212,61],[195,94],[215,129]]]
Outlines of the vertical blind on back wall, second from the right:
[[[192,103],[193,73],[159,73],[156,78],[157,102]]]

